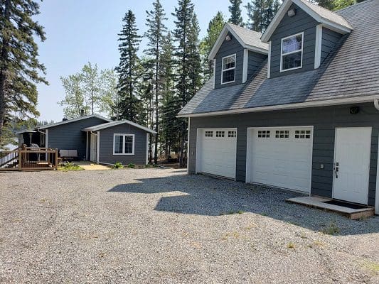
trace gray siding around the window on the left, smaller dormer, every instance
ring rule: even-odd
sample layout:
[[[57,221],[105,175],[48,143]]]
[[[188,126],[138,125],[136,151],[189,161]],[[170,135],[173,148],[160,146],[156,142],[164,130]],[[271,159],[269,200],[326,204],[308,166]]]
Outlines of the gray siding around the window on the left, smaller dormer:
[[[243,48],[242,45],[236,40],[233,35],[229,33],[232,38],[230,41],[224,40],[223,44],[220,46],[218,53],[215,56],[215,89],[226,86],[233,86],[235,84],[242,84],[242,72],[243,72]],[[235,82],[228,84],[221,84],[221,70],[222,61],[225,56],[235,54],[236,64],[235,64]]]

